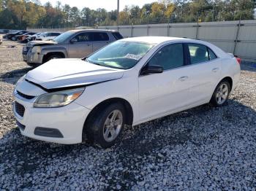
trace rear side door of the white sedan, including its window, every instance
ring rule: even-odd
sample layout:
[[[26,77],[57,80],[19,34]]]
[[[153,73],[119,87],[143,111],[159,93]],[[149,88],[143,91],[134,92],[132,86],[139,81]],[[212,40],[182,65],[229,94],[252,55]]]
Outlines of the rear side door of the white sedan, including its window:
[[[190,65],[187,67],[191,87],[190,104],[209,101],[221,76],[221,61],[214,52],[203,44],[187,44]]]

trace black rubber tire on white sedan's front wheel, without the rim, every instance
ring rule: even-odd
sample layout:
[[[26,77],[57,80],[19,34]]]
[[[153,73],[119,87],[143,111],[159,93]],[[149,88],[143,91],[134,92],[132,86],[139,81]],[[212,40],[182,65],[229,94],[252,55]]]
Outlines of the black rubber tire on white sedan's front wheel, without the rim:
[[[114,111],[120,111],[122,114],[121,129],[113,141],[106,141],[103,135],[106,129],[105,122],[108,117],[110,117],[110,114]],[[102,106],[93,112],[94,113],[90,114],[89,119],[84,127],[86,139],[91,144],[94,144],[94,146],[99,148],[108,148],[120,141],[121,133],[124,129],[124,124],[127,123],[124,106],[120,103],[114,103],[107,106]]]

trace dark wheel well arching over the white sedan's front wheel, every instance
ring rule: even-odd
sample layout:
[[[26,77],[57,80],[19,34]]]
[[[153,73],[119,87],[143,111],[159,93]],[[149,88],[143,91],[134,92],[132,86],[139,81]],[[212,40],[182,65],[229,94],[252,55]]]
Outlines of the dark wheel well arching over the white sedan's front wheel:
[[[126,101],[123,98],[110,98],[107,99],[105,101],[102,101],[101,103],[99,103],[97,106],[94,107],[94,109],[91,110],[91,112],[89,113],[88,117],[86,117],[86,121],[84,122],[83,125],[83,137],[82,140],[85,141],[86,140],[86,124],[89,121],[89,118],[91,118],[92,116],[94,116],[94,114],[97,114],[102,108],[113,104],[113,103],[121,103],[124,106],[125,112],[127,114],[127,125],[132,125],[133,122],[133,110],[132,110],[132,106],[129,104],[128,101]]]

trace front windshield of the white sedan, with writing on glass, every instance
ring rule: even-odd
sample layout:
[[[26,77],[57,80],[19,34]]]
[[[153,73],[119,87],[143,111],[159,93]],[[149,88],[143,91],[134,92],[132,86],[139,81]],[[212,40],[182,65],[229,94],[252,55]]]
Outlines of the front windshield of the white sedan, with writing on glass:
[[[116,41],[95,52],[86,61],[110,68],[131,69],[152,47],[154,44],[145,42]]]

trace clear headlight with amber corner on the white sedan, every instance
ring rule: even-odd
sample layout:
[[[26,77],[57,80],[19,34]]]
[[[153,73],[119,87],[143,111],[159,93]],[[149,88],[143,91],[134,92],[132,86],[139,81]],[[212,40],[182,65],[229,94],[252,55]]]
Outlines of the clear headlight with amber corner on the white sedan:
[[[75,99],[77,99],[83,93],[84,89],[85,87],[42,94],[34,102],[34,107],[49,108],[66,106],[72,101],[75,101]]]

